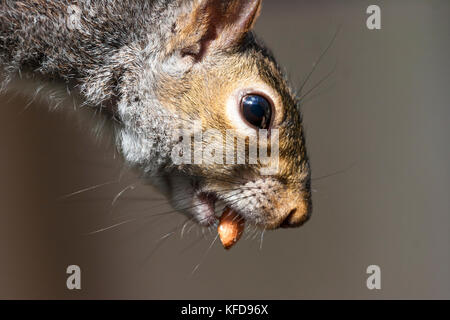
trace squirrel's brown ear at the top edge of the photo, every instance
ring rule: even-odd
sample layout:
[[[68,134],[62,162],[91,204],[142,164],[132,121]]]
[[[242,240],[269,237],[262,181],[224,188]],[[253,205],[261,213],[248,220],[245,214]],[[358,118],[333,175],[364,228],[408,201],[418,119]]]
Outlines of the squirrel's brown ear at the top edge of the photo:
[[[211,49],[227,49],[239,43],[253,28],[262,0],[197,0],[178,19],[171,49],[201,60]]]

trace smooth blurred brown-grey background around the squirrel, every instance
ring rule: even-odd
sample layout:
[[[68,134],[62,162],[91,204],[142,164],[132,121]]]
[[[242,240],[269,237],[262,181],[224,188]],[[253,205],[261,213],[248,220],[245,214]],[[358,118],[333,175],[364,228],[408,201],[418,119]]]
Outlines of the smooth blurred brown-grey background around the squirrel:
[[[450,298],[449,14],[446,0],[265,1],[257,31],[297,86],[341,32],[306,85],[337,66],[303,106],[313,218],[267,232],[262,250],[257,238],[208,252],[214,236],[195,227],[165,238],[183,217],[146,219],[170,208],[108,143],[0,96],[0,298]],[[81,291],[66,289],[71,264]],[[371,264],[379,291],[366,288]]]

